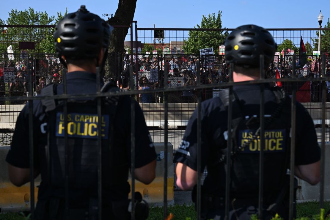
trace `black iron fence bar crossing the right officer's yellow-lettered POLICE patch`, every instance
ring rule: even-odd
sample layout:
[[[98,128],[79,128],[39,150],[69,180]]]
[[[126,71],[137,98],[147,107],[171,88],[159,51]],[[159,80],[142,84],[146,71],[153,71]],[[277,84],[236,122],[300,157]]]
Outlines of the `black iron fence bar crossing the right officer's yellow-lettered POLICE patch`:
[[[260,55],[260,79],[265,78],[264,55]],[[264,189],[264,149],[265,149],[265,84],[260,84],[260,152],[259,152],[259,212],[262,219],[263,189]]]

